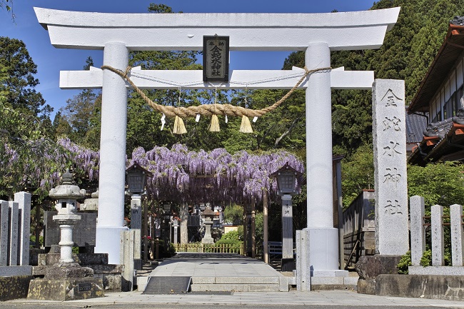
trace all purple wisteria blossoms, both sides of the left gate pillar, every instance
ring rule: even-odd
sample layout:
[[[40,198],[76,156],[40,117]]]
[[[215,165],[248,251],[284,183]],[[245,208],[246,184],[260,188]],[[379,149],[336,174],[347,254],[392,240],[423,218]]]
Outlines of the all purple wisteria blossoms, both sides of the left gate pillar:
[[[58,141],[59,148],[50,147],[44,156],[56,163],[73,163],[74,168],[85,174],[90,181],[99,176],[99,153],[72,143],[64,138]],[[14,151],[5,153],[3,161],[14,161]],[[6,158],[11,156],[11,158]],[[31,160],[34,161],[34,160]],[[240,203],[254,196],[261,200],[263,190],[276,191],[276,181],[269,178],[271,173],[289,163],[303,173],[301,161],[287,151],[252,154],[240,151],[231,155],[223,148],[213,151],[189,151],[181,144],[171,149],[156,146],[149,151],[139,147],[134,149],[126,166],[138,163],[153,173],[147,180],[147,194],[157,200],[173,202],[229,201]],[[59,166],[42,164],[40,171],[29,174],[39,190],[48,192],[59,180]],[[64,169],[65,166],[62,167]],[[301,186],[298,179],[297,186]]]

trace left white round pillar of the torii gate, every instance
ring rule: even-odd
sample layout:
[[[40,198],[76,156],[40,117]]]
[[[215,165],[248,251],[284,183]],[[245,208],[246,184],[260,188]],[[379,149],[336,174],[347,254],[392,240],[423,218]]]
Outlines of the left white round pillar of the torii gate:
[[[107,43],[104,65],[125,70],[128,49],[123,43]],[[123,226],[124,185],[126,183],[126,82],[113,72],[103,72],[101,101],[101,140],[99,177],[99,219],[96,225],[96,253],[109,253],[108,263],[120,264],[120,242]]]

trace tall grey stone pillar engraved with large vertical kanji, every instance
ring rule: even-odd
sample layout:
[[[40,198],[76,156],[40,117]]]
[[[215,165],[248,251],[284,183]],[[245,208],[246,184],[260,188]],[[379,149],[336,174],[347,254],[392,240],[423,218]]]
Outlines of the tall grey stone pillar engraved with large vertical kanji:
[[[375,251],[382,255],[409,248],[404,98],[404,81],[374,81]]]

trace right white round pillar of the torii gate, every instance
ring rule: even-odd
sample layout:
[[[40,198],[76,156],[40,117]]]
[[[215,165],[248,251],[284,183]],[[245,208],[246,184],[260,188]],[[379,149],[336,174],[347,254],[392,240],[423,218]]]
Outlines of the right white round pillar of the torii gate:
[[[306,67],[331,66],[326,42],[308,44]],[[316,126],[311,123],[317,123]],[[317,136],[318,143],[311,143]],[[331,74],[311,74],[306,88],[306,166],[309,242],[306,242],[313,276],[343,275],[338,270],[338,229],[333,228]],[[337,274],[336,274],[337,273]]]

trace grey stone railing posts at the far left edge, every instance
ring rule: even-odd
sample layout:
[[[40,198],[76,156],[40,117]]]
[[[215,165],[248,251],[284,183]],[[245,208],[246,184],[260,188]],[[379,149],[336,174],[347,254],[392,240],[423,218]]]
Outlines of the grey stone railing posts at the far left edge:
[[[0,275],[16,275],[4,266],[29,265],[30,226],[31,194],[19,192],[14,201],[0,200]]]

